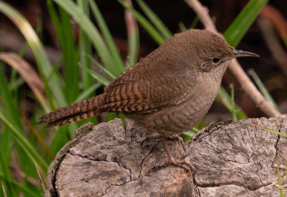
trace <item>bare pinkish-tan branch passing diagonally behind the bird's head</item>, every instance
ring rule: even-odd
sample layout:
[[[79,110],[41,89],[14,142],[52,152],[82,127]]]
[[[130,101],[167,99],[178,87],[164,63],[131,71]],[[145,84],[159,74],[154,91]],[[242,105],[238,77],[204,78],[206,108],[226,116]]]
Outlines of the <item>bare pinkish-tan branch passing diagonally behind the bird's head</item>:
[[[204,8],[201,3],[197,0],[184,0],[197,14],[199,20],[204,25],[206,29],[218,34],[217,29],[215,28],[210,15],[207,12],[207,9]],[[251,82],[247,74],[245,74],[244,70],[238,64],[237,60],[232,60],[232,62],[228,66],[229,70],[234,74],[236,79],[238,80],[241,88],[245,91],[245,93],[253,100],[253,102],[269,117],[278,117],[285,116],[279,113],[267,100],[264,96],[259,92],[259,90],[255,87],[255,85]]]

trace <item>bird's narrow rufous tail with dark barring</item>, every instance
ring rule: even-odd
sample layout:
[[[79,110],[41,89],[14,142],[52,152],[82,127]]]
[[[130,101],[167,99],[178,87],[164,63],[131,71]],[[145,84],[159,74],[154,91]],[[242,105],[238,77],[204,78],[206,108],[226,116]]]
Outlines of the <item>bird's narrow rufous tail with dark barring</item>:
[[[102,99],[103,96],[98,95],[91,99],[62,107],[39,118],[41,121],[38,124],[48,123],[46,127],[55,127],[99,115],[101,112],[98,112],[97,109]]]

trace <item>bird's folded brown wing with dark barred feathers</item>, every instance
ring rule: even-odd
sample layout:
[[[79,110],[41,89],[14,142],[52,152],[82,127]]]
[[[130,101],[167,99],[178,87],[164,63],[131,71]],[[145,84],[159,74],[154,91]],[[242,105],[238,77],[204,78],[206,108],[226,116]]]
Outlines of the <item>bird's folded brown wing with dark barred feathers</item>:
[[[125,73],[124,77],[117,78],[107,86],[105,99],[97,111],[148,113],[177,105],[193,94],[194,85],[191,80],[182,76],[143,76],[134,79]]]

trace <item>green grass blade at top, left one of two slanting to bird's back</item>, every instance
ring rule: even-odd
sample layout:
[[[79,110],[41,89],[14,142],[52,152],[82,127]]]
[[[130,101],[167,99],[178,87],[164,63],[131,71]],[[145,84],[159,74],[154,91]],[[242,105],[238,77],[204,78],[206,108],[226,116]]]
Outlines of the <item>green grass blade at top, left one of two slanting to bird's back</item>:
[[[136,11],[134,8],[129,7],[125,1],[118,0],[121,5],[130,11],[135,18],[137,19],[137,22],[146,29],[146,31],[150,34],[150,36],[156,41],[157,44],[161,45],[165,39],[162,37],[162,35],[156,30],[156,28],[145,18],[143,17],[138,11]]]

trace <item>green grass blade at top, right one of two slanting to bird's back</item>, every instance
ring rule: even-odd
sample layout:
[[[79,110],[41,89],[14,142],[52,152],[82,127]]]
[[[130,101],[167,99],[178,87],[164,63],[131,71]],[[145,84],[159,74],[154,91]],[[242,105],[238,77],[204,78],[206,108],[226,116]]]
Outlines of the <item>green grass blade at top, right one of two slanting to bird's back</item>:
[[[162,34],[162,37],[167,40],[172,37],[173,34],[169,31],[169,29],[164,25],[164,23],[160,20],[160,18],[148,7],[148,5],[142,0],[136,0],[141,9],[144,11],[146,16],[150,19],[152,24],[157,28],[157,30]]]

